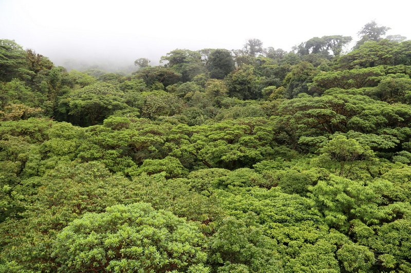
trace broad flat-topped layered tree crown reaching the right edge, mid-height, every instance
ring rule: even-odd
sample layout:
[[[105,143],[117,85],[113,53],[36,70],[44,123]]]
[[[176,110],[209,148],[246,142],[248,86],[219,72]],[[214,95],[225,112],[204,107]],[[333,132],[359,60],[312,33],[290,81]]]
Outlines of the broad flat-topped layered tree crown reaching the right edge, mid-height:
[[[296,148],[298,139],[302,136],[324,137],[350,130],[376,135],[388,134],[397,139],[407,138],[407,129],[404,131],[407,125],[404,121],[409,117],[406,112],[408,110],[405,109],[408,109],[405,104],[390,106],[367,96],[333,94],[283,101],[276,107],[276,116],[272,120],[277,141],[286,141]],[[386,139],[382,136],[381,140],[384,138]],[[397,142],[391,139],[394,143]]]

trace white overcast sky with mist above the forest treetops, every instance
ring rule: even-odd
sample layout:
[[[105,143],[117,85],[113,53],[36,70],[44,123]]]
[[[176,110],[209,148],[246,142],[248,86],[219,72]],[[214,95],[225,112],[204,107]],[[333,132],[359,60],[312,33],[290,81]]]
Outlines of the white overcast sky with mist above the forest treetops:
[[[408,1],[0,0],[0,39],[57,65],[68,58],[158,64],[176,48],[240,49],[247,38],[291,48],[312,37],[352,36],[376,20],[411,39]]]

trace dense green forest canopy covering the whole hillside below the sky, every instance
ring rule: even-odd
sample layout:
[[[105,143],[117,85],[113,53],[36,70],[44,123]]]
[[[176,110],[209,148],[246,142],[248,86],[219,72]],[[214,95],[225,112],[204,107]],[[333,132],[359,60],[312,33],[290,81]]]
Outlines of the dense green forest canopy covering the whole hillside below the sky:
[[[0,272],[411,272],[411,41],[387,29],[130,75],[0,40]]]

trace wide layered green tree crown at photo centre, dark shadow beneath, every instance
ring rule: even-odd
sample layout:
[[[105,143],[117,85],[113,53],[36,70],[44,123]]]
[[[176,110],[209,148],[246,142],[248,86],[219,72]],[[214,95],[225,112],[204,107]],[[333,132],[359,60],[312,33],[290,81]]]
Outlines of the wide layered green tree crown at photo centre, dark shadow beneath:
[[[170,153],[183,159],[182,164],[201,163],[208,167],[235,169],[248,167],[268,157],[272,149],[264,118],[228,120],[198,128],[176,127],[169,137],[174,143]],[[190,141],[188,140],[190,139]]]

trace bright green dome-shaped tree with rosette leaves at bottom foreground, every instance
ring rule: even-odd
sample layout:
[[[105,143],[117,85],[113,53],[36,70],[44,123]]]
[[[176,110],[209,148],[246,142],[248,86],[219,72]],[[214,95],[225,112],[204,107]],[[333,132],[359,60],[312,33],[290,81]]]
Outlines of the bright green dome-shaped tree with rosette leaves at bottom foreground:
[[[194,223],[134,203],[74,220],[57,236],[52,255],[64,272],[190,272],[206,262],[204,239]]]

